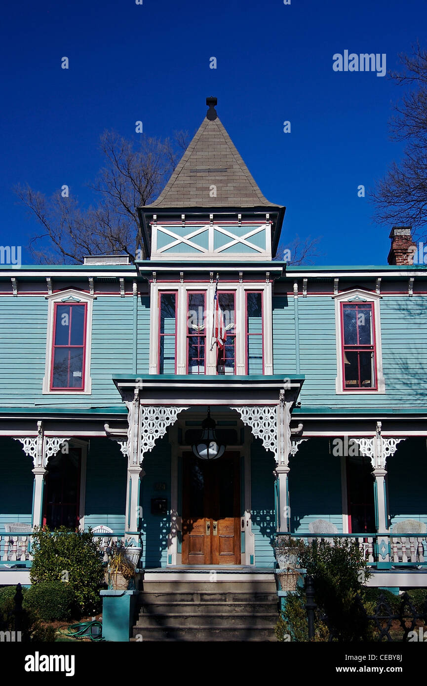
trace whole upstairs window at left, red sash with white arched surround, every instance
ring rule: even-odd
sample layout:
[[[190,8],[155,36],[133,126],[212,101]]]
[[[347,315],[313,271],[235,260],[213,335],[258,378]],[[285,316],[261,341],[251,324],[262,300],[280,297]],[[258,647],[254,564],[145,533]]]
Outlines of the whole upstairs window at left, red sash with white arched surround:
[[[43,393],[91,393],[91,328],[94,296],[67,289],[47,296]]]

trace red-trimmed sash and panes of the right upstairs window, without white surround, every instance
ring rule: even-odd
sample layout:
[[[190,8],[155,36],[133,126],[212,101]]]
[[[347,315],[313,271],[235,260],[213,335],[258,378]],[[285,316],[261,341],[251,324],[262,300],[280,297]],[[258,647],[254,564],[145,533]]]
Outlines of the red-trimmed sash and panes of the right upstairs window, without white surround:
[[[341,303],[343,390],[376,390],[373,303]]]

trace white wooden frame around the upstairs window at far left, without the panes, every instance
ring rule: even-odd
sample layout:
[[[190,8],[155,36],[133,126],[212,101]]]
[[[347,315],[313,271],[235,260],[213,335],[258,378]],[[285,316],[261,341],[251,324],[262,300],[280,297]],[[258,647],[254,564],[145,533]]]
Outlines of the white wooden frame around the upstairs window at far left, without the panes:
[[[45,376],[43,377],[43,394],[47,395],[91,395],[92,393],[92,379],[91,372],[91,344],[92,344],[92,309],[93,300],[96,296],[91,296],[89,293],[79,291],[75,288],[67,288],[58,293],[52,293],[45,296],[48,301],[47,309],[47,340],[46,340],[46,364]],[[54,314],[55,305],[66,303],[81,303],[86,305],[86,340],[84,341],[84,388],[78,390],[51,390],[51,364],[52,355],[54,351]]]

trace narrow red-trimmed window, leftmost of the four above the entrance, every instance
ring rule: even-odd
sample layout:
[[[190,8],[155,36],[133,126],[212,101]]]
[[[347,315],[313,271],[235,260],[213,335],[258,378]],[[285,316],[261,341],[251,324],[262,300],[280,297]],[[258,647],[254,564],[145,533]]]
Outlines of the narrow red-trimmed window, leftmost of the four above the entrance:
[[[176,373],[176,292],[159,293],[159,374]]]

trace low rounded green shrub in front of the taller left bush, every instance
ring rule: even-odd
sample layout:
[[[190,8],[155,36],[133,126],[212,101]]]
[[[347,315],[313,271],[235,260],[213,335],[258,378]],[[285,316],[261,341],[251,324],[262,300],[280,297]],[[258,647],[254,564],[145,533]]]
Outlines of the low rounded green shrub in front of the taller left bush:
[[[42,581],[33,584],[23,606],[35,611],[43,622],[57,622],[76,616],[76,594],[70,584]]]

